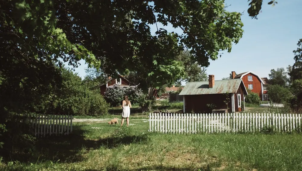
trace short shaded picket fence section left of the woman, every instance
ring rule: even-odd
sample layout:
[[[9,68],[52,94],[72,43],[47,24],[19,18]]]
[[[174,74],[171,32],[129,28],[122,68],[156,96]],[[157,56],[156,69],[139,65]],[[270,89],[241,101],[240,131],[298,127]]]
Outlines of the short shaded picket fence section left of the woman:
[[[72,115],[31,116],[31,131],[38,137],[66,135],[72,132]]]

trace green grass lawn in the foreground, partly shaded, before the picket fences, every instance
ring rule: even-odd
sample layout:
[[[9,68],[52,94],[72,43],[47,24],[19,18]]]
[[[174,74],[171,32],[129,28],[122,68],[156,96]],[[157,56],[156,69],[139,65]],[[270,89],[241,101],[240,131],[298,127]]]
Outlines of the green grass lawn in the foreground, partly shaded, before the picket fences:
[[[13,156],[18,162],[0,170],[302,168],[301,134],[158,134],[147,132],[148,119],[130,117],[129,128],[106,122],[75,122],[71,135],[41,138],[34,156]]]

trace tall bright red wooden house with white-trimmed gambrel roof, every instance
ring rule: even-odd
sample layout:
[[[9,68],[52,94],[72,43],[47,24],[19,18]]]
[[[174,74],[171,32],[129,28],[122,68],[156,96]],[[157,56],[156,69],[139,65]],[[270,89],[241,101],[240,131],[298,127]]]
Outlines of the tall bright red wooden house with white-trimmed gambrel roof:
[[[261,78],[252,71],[244,72],[238,75],[235,75],[235,71],[232,71],[232,77],[233,79],[242,79],[245,87],[250,89],[252,92],[257,93],[262,101],[268,99],[266,90],[268,84],[267,78]]]

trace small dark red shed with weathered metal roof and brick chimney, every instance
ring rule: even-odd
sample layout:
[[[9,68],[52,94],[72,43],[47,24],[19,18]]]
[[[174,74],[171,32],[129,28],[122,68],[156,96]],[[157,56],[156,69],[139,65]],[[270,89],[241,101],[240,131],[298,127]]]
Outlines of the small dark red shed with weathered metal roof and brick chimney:
[[[209,75],[209,81],[188,82],[179,93],[183,95],[186,113],[211,113],[213,109],[239,112],[244,108],[247,94],[242,79],[215,81],[214,75]]]

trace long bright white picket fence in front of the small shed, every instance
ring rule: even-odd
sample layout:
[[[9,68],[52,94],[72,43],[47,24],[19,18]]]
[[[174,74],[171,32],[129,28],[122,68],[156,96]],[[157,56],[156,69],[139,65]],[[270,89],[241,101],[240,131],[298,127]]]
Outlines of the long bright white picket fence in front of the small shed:
[[[271,129],[271,130],[269,130]],[[150,113],[149,131],[173,134],[301,131],[300,114],[223,113],[174,114]]]

